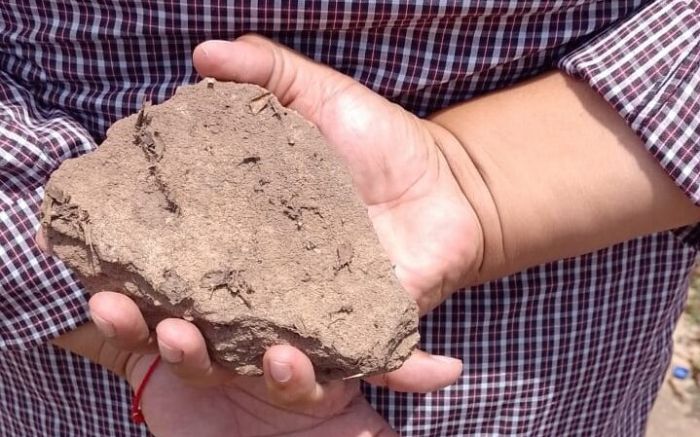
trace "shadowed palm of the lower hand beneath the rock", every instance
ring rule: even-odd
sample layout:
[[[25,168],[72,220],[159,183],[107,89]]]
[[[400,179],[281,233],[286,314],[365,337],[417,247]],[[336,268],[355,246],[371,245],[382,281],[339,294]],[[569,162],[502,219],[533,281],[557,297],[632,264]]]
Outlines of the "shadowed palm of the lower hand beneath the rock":
[[[139,359],[130,380],[140,381],[151,361]],[[309,436],[361,437],[393,434],[362,398],[357,382],[347,383],[337,399],[313,411],[293,412],[273,405],[260,378],[197,388],[159,366],[148,382],[142,407],[155,436]]]

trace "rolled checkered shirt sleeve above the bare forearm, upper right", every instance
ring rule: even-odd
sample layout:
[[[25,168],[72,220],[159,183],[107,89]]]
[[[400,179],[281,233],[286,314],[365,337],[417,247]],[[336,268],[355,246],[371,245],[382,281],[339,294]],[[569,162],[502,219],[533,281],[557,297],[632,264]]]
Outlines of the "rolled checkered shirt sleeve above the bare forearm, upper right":
[[[560,67],[600,93],[700,205],[700,0],[652,2]]]

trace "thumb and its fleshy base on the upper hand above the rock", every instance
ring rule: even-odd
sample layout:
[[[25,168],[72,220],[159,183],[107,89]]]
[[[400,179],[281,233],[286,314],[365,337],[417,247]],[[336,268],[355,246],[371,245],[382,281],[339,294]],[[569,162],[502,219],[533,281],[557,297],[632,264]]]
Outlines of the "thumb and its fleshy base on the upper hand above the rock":
[[[349,76],[257,35],[202,43],[193,62],[202,76],[267,88],[313,122],[368,206],[396,200],[425,173],[424,125]]]

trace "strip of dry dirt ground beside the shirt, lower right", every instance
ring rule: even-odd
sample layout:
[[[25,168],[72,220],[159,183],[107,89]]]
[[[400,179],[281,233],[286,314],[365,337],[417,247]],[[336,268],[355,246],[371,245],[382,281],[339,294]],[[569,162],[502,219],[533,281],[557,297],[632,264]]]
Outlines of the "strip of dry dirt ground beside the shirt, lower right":
[[[649,419],[648,437],[700,436],[700,268],[696,268],[674,341],[671,367]],[[690,375],[675,378],[674,366],[689,369]]]

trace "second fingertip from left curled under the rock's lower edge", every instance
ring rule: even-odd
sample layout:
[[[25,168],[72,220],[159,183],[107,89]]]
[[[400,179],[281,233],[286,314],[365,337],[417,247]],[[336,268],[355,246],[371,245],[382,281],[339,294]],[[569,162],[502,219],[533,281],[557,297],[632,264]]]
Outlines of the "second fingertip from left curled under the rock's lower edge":
[[[212,363],[202,333],[182,319],[165,319],[156,327],[158,350],[170,370],[192,385],[213,386],[235,375]]]

